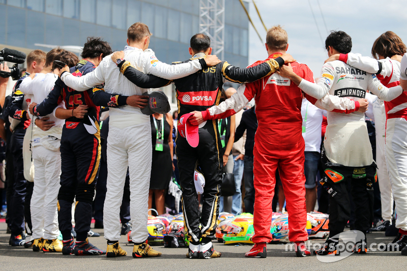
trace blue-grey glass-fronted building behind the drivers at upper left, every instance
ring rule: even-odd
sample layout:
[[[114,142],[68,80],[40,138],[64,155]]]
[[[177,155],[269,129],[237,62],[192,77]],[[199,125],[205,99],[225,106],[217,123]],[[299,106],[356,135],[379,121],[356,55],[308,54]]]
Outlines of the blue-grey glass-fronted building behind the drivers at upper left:
[[[184,61],[199,32],[199,0],[0,0],[0,49],[48,51],[35,44],[83,46],[95,36],[123,50],[128,27],[138,21],[153,33],[150,48],[160,61]],[[232,65],[248,65],[248,28],[239,0],[225,0],[224,58]]]

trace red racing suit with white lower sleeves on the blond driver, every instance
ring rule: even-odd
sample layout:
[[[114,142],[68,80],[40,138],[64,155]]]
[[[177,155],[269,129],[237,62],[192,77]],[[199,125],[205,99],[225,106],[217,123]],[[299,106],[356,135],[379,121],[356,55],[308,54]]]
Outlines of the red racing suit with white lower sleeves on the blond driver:
[[[269,58],[276,58],[275,53]],[[267,60],[267,59],[266,59]],[[265,61],[258,61],[256,66]],[[292,63],[293,70],[307,81],[314,82],[312,71],[305,64]],[[350,99],[325,96],[308,100],[329,111],[349,113],[359,109],[359,103]],[[290,79],[273,73],[239,87],[238,92],[218,106],[202,111],[203,120],[225,118],[241,110],[255,99],[258,128],[254,138],[254,243],[271,242],[272,200],[279,169],[288,211],[288,238],[292,242],[308,239],[306,231],[304,148],[302,137],[302,91]]]

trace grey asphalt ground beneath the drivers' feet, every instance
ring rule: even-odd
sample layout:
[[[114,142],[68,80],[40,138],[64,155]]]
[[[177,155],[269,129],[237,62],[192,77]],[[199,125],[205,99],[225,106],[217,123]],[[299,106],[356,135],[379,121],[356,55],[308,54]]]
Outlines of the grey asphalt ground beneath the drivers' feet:
[[[101,237],[91,237],[90,242],[106,249],[103,230],[95,229]],[[0,223],[0,270],[398,270],[404,269],[407,256],[400,252],[368,252],[365,255],[351,255],[333,263],[323,263],[312,255],[297,258],[294,252],[286,252],[285,245],[267,245],[267,258],[245,258],[250,246],[225,246],[214,242],[216,250],[222,253],[218,259],[187,259],[185,248],[168,249],[154,247],[163,255],[157,258],[137,258],[131,256],[133,246],[127,245],[122,236],[121,247],[127,256],[106,258],[106,256],[75,256],[60,253],[33,252],[23,247],[10,247],[6,223]],[[368,242],[388,243],[394,237],[386,237],[383,232],[368,234]],[[335,257],[335,256],[332,256]]]

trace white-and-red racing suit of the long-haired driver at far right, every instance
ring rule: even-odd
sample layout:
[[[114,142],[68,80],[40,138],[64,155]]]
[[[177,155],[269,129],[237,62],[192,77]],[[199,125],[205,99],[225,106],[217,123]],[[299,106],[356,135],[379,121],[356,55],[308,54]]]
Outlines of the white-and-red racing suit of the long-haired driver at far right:
[[[407,80],[407,75],[405,74],[407,67],[406,55],[403,56],[404,68],[400,67],[398,61],[394,61],[390,58],[376,61],[376,59],[353,53],[341,55],[341,57],[342,61],[352,66],[367,72],[377,73],[377,78],[388,87],[399,85],[400,79]],[[385,101],[384,105],[387,119],[385,155],[393,190],[393,198],[396,203],[396,228],[405,231],[407,230],[407,149],[405,148],[407,144],[407,93],[403,92],[397,99]],[[383,219],[391,221],[393,199],[389,195],[390,188],[388,184],[385,184],[386,187],[382,190],[382,184],[380,182],[381,179],[379,178],[379,185],[381,185],[382,213],[383,201],[387,201],[385,208],[387,214],[382,214],[382,216]]]

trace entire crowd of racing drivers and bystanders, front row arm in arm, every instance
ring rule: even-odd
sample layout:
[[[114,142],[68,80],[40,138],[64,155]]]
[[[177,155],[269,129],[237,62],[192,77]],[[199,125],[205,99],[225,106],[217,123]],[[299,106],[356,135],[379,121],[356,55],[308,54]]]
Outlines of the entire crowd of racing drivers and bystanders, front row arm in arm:
[[[304,218],[314,211],[331,221],[315,254],[334,253],[345,226],[364,232],[358,253],[367,251],[367,232],[386,231],[396,235],[392,250],[407,254],[407,59],[396,34],[377,38],[374,59],[351,53],[351,38],[332,32],[315,79],[286,54],[280,26],[268,31],[269,57],[247,69],[212,56],[202,34],[191,38],[191,59],[163,64],[148,49],[150,36],[135,23],[124,52],[114,54],[107,42],[88,38],[81,60],[61,48],[34,50],[7,97],[9,78],[0,77],[0,199],[11,246],[117,257],[127,254],[119,240],[131,231],[133,257],[157,257],[146,240],[148,215],[183,213],[187,257],[216,258],[218,214],[250,213],[255,245],[246,257],[264,258],[272,210],[290,214],[299,257],[310,255]],[[144,89],[168,83],[176,86],[178,110],[142,113],[153,106]],[[194,92],[205,99],[191,102]],[[197,129],[199,142],[182,125]],[[196,172],[205,177],[202,193]],[[226,176],[232,181],[222,187]],[[100,236],[92,218],[107,250],[89,242]]]

